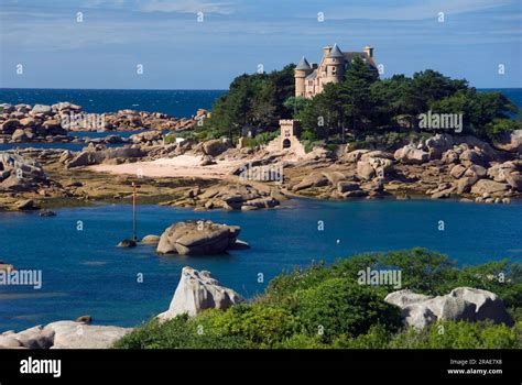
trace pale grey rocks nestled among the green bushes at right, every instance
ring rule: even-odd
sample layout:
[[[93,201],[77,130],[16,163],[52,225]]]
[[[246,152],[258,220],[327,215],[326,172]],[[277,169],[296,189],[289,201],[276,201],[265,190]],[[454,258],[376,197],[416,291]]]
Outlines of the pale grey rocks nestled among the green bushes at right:
[[[436,321],[459,320],[513,324],[503,301],[493,293],[482,289],[457,287],[438,297],[405,289],[389,294],[384,300],[400,307],[404,323],[415,329],[423,329]]]

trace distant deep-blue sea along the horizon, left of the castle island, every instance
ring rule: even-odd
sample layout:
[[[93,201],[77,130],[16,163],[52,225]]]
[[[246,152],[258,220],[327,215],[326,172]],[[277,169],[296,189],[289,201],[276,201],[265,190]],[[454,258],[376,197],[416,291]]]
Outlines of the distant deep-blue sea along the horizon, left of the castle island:
[[[54,105],[69,101],[89,113],[131,109],[191,118],[198,108],[209,110],[225,90],[33,89],[0,88],[0,103]]]

